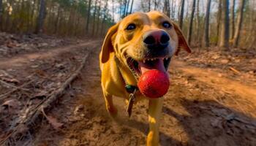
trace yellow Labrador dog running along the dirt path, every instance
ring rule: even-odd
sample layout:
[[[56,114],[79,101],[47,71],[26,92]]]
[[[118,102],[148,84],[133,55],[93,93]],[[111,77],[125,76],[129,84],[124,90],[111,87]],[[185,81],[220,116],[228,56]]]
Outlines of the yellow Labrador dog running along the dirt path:
[[[136,87],[143,70],[167,72],[170,60],[179,48],[191,53],[181,29],[162,12],[135,12],[109,28],[99,54],[101,86],[105,105],[113,117],[117,115],[113,96],[129,101],[126,85]],[[135,90],[133,90],[135,91]],[[135,102],[148,99],[149,133],[147,145],[159,143],[159,120],[163,98],[149,99],[140,91]]]

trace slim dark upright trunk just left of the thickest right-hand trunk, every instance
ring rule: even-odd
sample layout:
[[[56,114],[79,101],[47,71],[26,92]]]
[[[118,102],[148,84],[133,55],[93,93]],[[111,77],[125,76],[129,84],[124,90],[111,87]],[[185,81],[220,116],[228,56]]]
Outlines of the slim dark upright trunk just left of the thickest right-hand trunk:
[[[205,47],[209,47],[209,18],[210,18],[210,9],[211,9],[211,0],[207,1],[207,8],[206,8],[206,18],[205,18],[205,28],[204,28],[204,35],[203,35],[203,45]]]

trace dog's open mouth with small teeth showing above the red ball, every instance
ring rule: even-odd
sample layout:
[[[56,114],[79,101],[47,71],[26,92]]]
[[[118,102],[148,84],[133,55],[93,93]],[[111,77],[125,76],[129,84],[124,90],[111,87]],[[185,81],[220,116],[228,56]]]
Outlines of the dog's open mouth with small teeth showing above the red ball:
[[[135,59],[128,57],[127,64],[135,77],[139,78],[141,74],[150,69],[157,69],[161,72],[167,72],[170,59],[170,56],[165,56],[159,58],[145,58],[141,61],[136,61]]]

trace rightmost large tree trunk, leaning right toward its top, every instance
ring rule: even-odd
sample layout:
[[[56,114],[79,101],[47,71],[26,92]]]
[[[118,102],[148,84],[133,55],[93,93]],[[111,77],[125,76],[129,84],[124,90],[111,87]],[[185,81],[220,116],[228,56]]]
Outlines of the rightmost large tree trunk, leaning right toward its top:
[[[240,38],[240,31],[243,23],[244,5],[245,5],[245,0],[240,0],[239,14],[238,14],[237,25],[236,25],[236,34],[234,37],[234,40],[235,40],[234,47],[238,46],[238,42]]]

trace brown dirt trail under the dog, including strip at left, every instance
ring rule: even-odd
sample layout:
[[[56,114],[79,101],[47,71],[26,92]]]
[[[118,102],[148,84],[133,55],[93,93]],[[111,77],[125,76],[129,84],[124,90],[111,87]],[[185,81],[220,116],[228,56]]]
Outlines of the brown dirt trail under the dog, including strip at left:
[[[31,131],[32,137],[26,139],[29,145],[145,145],[148,101],[136,104],[132,117],[128,118],[124,101],[115,98],[118,118],[110,118],[100,88],[99,48],[99,45],[90,48],[95,51],[80,77],[47,113],[63,123],[62,128],[54,129],[48,120],[42,119],[35,131]],[[84,54],[79,49],[71,53],[72,47],[61,51],[66,55],[59,55],[57,49],[33,54],[23,61],[42,56],[45,60],[53,57],[65,60],[67,55]],[[13,64],[20,62],[18,58],[13,61]],[[160,145],[256,145],[255,88],[234,82],[225,74],[219,77],[208,69],[173,62]]]

